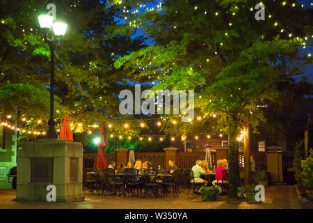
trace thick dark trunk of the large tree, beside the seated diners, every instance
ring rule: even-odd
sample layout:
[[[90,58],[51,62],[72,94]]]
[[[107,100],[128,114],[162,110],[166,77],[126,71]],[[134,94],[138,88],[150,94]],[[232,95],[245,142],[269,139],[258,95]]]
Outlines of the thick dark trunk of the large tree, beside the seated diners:
[[[237,125],[231,124],[228,130],[228,197],[236,197],[237,188],[240,187],[239,175],[239,148],[236,141]]]

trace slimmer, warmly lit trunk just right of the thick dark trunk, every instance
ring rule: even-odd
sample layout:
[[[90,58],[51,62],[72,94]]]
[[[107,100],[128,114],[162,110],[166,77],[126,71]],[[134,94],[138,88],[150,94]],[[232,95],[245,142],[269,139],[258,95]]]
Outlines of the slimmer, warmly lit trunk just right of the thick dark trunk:
[[[252,184],[251,178],[251,162],[250,162],[250,116],[246,116],[245,125],[243,126],[244,137],[243,137],[243,151],[245,159],[245,180],[244,185]]]

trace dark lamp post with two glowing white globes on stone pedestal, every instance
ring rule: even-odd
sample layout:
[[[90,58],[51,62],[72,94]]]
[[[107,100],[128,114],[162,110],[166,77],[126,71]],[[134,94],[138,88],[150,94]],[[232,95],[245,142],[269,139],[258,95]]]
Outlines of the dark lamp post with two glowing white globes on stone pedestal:
[[[54,17],[49,15],[40,15],[38,17],[38,21],[40,27],[45,31],[45,42],[49,44],[50,47],[50,59],[51,59],[51,77],[50,77],[50,118],[48,121],[48,131],[47,138],[48,139],[57,139],[58,133],[56,133],[56,121],[54,120],[54,48],[56,46],[56,40],[60,43],[62,36],[64,36],[66,31],[66,24],[61,22],[53,23]],[[56,40],[54,37],[51,39],[47,38],[49,29],[54,30],[54,35],[56,36]]]

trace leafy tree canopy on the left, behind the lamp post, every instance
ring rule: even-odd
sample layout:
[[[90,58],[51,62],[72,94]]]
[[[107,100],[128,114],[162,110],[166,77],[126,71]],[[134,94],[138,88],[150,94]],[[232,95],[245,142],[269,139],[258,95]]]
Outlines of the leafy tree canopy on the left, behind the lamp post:
[[[49,59],[47,43],[42,41],[38,15],[47,13],[49,1],[0,1],[0,86],[8,81],[21,87],[29,84],[33,89],[33,110],[19,106],[19,114],[29,119],[42,118],[46,128],[45,114],[40,100],[49,90]],[[106,1],[54,1],[56,19],[67,23],[67,32],[61,46],[56,48],[56,98],[70,114],[74,132],[90,130],[96,121],[116,123],[118,132],[135,134],[136,128],[122,128],[118,112],[118,93],[131,84],[113,63],[118,56],[144,47],[145,38],[130,38],[118,33],[116,17],[122,10]],[[130,33],[131,34],[131,33]],[[36,90],[45,86],[46,93]],[[27,90],[27,91],[28,91]],[[37,95],[40,94],[41,95]],[[49,97],[47,97],[49,98]],[[6,98],[10,100],[10,98]],[[13,99],[13,98],[11,98]],[[12,100],[13,101],[13,100]],[[7,104],[3,104],[6,109]],[[21,104],[19,104],[21,105]],[[64,113],[56,109],[57,125],[61,125]],[[123,118],[127,119],[130,116]],[[45,123],[45,124],[43,124]],[[83,123],[79,128],[79,123]]]

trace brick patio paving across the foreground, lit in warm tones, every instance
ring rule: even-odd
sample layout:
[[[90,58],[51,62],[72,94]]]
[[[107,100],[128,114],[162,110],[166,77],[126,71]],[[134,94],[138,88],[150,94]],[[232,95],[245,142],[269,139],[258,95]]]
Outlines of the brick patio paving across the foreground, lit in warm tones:
[[[269,185],[265,189],[265,201],[248,203],[230,201],[220,197],[220,201],[201,201],[199,195],[186,195],[186,190],[174,198],[167,197],[111,197],[86,192],[86,199],[77,203],[43,203],[13,201],[15,190],[0,190],[0,209],[313,209],[313,202],[299,202],[292,185]]]

